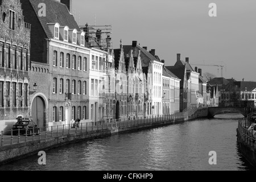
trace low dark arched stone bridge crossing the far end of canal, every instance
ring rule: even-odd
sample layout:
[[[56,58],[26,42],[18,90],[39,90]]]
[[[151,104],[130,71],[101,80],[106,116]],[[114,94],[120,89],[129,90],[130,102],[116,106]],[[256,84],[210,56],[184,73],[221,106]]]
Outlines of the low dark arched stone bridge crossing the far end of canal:
[[[208,117],[214,117],[214,115],[224,113],[241,113],[246,117],[246,115],[249,113],[249,108],[232,106],[208,107]]]

